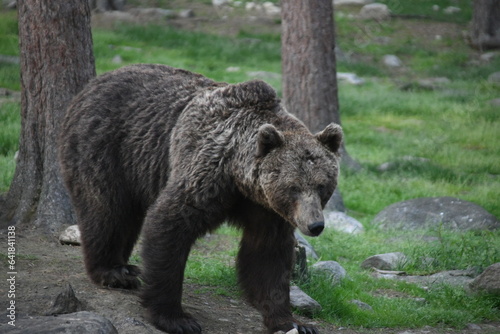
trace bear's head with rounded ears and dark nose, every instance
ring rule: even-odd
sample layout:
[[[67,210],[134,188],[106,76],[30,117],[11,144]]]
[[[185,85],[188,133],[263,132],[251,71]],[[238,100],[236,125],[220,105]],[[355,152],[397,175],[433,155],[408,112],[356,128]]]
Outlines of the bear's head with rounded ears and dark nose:
[[[305,235],[318,236],[325,226],[323,208],[337,186],[342,136],[334,123],[316,135],[271,124],[257,132],[258,182],[266,205]]]

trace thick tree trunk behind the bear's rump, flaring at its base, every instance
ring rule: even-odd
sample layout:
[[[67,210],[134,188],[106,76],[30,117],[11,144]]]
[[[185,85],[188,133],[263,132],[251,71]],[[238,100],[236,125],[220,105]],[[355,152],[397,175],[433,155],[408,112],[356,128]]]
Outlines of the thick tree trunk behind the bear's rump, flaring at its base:
[[[95,76],[88,0],[18,2],[21,135],[0,227],[55,232],[74,215],[57,162],[57,137],[71,98]]]

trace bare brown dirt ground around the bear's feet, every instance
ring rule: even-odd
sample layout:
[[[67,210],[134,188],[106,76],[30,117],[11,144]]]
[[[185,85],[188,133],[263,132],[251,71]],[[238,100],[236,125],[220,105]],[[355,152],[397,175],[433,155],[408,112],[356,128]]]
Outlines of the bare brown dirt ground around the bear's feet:
[[[0,234],[2,245],[7,244],[5,231]],[[82,302],[83,310],[92,311],[109,319],[120,334],[162,333],[145,318],[144,309],[135,292],[98,287],[90,282],[83,266],[81,247],[61,245],[56,237],[40,236],[37,231],[16,231],[16,316],[17,320],[30,316],[45,315],[53,305],[56,296],[67,283],[73,287],[76,297]],[[207,250],[217,252],[217,249]],[[199,247],[199,246],[198,246]],[[214,246],[219,247],[218,245]],[[5,249],[5,247],[2,246]],[[9,272],[7,263],[0,262],[2,273]],[[7,305],[8,284],[0,285],[0,305]],[[184,305],[203,327],[206,334],[264,334],[260,314],[240,297],[217,294],[213,288],[195,283],[184,287]],[[1,312],[0,333],[12,330],[7,325],[6,313]],[[478,329],[360,329],[340,328],[317,319],[298,317],[306,323],[314,323],[320,333],[368,333],[368,334],[435,334],[435,333],[500,333],[500,323],[478,324]],[[19,327],[18,327],[19,328]]]

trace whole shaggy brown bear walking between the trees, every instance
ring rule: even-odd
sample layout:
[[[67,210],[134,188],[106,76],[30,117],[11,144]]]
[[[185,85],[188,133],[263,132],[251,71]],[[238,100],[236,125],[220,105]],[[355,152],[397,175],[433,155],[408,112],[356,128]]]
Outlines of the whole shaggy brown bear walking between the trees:
[[[71,103],[60,163],[85,265],[104,286],[137,288],[128,258],[142,229],[143,305],[169,333],[200,333],[181,306],[195,240],[223,222],[243,230],[237,272],[269,332],[317,330],[290,311],[294,229],[323,228],[342,130],[312,135],[262,81],[217,83],[164,65],[91,81]]]

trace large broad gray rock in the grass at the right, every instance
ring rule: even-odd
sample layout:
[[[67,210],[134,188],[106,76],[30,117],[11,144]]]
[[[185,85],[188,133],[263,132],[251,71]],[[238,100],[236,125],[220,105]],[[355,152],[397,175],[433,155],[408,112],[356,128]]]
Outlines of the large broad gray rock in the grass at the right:
[[[416,198],[392,204],[375,216],[385,229],[444,227],[451,230],[493,230],[500,221],[477,204],[454,197]]]

